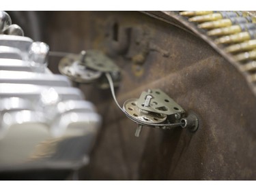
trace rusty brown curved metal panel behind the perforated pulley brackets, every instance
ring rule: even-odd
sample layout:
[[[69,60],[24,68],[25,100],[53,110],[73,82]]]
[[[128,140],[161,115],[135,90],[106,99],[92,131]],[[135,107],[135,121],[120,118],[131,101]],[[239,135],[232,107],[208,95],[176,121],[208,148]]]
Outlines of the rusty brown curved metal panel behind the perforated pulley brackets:
[[[138,139],[137,126],[115,105],[110,90],[82,85],[104,120],[82,179],[256,179],[256,99],[244,76],[205,41],[139,12],[46,12],[45,18],[43,40],[51,50],[112,55],[123,71],[121,105],[143,90],[160,88],[199,116],[196,133],[143,128]],[[150,50],[143,64],[134,65],[126,48],[121,53],[110,48],[113,22],[119,29],[150,31],[150,43],[169,57]],[[49,67],[57,71],[57,63]]]

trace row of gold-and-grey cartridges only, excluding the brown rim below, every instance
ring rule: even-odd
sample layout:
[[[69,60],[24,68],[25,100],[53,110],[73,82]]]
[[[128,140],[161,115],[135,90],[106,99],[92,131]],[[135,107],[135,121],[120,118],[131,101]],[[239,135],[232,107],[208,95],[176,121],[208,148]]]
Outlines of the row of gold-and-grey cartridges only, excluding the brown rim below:
[[[179,12],[228,54],[256,93],[256,17],[250,12]]]

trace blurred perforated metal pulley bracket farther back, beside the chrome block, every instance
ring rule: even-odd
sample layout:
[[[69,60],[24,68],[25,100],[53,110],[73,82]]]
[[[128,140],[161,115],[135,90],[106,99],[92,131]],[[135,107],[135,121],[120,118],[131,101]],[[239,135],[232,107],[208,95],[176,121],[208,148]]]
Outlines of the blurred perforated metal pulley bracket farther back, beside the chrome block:
[[[109,88],[104,73],[110,73],[114,86],[118,86],[121,81],[119,67],[99,50],[83,50],[80,54],[68,54],[60,60],[59,71],[74,82],[97,82],[102,89]]]

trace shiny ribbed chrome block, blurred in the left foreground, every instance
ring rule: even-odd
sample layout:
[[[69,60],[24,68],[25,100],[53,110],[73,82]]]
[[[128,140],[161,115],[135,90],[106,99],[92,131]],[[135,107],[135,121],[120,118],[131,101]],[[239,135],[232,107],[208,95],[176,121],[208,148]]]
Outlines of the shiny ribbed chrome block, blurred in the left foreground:
[[[0,35],[0,172],[89,162],[101,117],[66,76],[51,73],[48,51],[43,42]]]

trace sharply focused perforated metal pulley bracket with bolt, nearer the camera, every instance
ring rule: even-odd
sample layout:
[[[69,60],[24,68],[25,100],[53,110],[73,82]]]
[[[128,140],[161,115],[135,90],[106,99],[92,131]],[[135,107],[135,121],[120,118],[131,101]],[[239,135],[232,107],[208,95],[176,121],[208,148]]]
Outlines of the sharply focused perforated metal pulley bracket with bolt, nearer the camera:
[[[186,112],[160,89],[142,92],[139,99],[129,99],[124,103],[124,113],[138,124],[135,136],[139,137],[143,126],[171,129],[177,126],[197,131],[199,122],[195,114]]]

